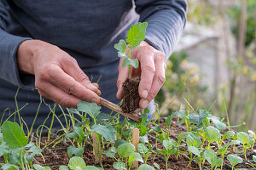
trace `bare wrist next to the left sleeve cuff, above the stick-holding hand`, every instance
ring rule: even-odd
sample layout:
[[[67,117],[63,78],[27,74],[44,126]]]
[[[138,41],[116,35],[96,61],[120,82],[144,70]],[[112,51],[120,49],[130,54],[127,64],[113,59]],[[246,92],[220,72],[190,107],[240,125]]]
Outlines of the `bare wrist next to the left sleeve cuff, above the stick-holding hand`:
[[[40,40],[26,40],[21,42],[16,54],[19,71],[34,74],[33,63],[35,54],[46,45],[50,44]]]

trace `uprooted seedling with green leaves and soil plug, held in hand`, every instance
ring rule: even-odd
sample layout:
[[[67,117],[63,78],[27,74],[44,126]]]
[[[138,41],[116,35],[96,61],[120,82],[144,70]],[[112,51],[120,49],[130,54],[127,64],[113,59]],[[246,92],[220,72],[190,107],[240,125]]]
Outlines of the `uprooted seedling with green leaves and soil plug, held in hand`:
[[[139,108],[139,100],[141,99],[138,94],[138,85],[140,82],[139,77],[129,77],[131,66],[137,68],[139,63],[137,59],[132,59],[131,49],[137,48],[137,46],[145,39],[147,22],[139,22],[136,25],[132,25],[130,30],[127,32],[126,44],[125,40],[119,40],[119,43],[114,45],[114,48],[118,50],[118,56],[124,58],[122,66],[128,66],[128,77],[123,82],[124,99],[121,105],[122,110],[125,113],[132,113]],[[126,49],[129,48],[128,55],[125,54]]]

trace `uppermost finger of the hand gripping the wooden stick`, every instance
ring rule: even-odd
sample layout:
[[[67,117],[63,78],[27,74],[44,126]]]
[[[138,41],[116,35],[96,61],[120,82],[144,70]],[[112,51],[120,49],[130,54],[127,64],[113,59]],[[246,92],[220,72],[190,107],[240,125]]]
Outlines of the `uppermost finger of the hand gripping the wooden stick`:
[[[80,82],[84,87],[97,92],[98,88],[91,84],[89,77],[87,77],[79,67],[78,62],[71,56],[64,57],[61,61],[61,67],[69,76],[73,77],[77,82]]]

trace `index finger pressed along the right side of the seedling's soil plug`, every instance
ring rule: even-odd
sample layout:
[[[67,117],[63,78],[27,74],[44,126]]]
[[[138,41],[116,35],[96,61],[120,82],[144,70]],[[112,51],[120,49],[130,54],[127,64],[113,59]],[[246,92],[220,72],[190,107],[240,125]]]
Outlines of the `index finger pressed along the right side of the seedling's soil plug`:
[[[154,66],[154,48],[141,47],[137,48],[137,59],[141,65],[141,82],[139,84],[138,92],[141,98],[148,97],[149,90],[152,86],[155,66]]]

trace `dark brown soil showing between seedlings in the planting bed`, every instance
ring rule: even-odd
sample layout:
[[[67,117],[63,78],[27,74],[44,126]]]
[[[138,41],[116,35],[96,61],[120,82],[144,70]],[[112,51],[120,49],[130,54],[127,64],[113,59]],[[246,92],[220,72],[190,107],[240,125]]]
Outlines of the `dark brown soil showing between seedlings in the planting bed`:
[[[167,129],[166,125],[165,125],[165,120],[161,119],[160,120],[160,126],[162,128]],[[177,122],[172,122],[172,126],[171,126],[171,131],[170,131],[170,137],[171,139],[175,139],[177,140],[177,135],[183,132],[186,132],[186,127],[185,125],[177,125]],[[225,131],[223,131],[222,133],[224,133]],[[42,156],[35,156],[34,159],[34,163],[40,164],[42,166],[49,166],[51,167],[53,170],[58,170],[59,167],[61,165],[67,165],[68,161],[69,161],[69,157],[67,156],[67,147],[69,145],[71,145],[74,141],[73,140],[68,140],[68,139],[64,139],[64,140],[60,140],[61,138],[59,138],[61,135],[60,133],[54,134],[50,137],[50,139],[47,138],[47,133],[43,134],[43,137],[41,139],[40,142],[40,148],[44,148],[45,144],[47,144],[47,147],[42,151]],[[148,140],[150,144],[156,144],[156,140],[154,138],[155,133],[148,133]],[[59,138],[59,139],[57,139]],[[57,140],[55,140],[57,139]],[[55,145],[50,144],[52,141]],[[34,143],[39,142],[38,138],[33,137],[32,141]],[[60,141],[60,142],[57,142]],[[212,146],[216,146],[217,148],[217,144],[211,144]],[[157,143],[157,147],[159,149],[163,149],[163,145],[160,143]],[[108,145],[106,144],[104,147],[102,147],[102,150],[107,150],[108,149]],[[256,149],[256,145],[254,145],[253,149]],[[154,150],[156,150],[156,148],[154,148]],[[198,170],[199,167],[197,165],[197,163],[195,161],[192,161],[191,164],[188,166],[189,164],[189,152],[187,152],[187,147],[182,147],[180,148],[180,150],[185,151],[184,154],[179,154],[179,156],[170,156],[169,160],[168,160],[168,168],[171,168],[173,170],[182,170],[182,169],[190,169],[190,170]],[[236,145],[236,150],[242,150],[242,146],[241,145]],[[235,154],[235,152],[233,151],[233,147],[229,148],[230,153]],[[244,159],[244,156],[242,154],[238,155],[241,156],[241,158]],[[93,154],[93,148],[90,144],[89,141],[87,141],[87,143],[85,144],[84,147],[84,161],[86,163],[86,165],[94,165],[96,167],[100,167],[99,164],[95,163],[95,156]],[[247,150],[247,160],[250,160],[251,162],[253,162],[253,150]],[[108,156],[105,156],[104,154],[102,154],[102,165],[104,167],[104,169],[108,169],[108,170],[114,170],[113,168],[113,162],[115,160],[113,158],[110,158]],[[3,162],[3,156],[0,157],[0,162]],[[164,156],[161,155],[154,155],[152,154],[151,156],[149,156],[147,164],[151,165],[152,167],[154,167],[154,162],[158,163],[161,167],[161,169],[166,169],[166,164],[165,164],[165,158]],[[205,164],[202,166],[202,169],[207,169],[210,168],[210,164],[206,161]],[[243,163],[236,165],[235,168],[247,168],[247,169],[253,169],[252,167],[248,166],[247,164],[245,164],[245,161],[243,161]],[[232,169],[232,167],[230,166],[230,162],[226,159],[226,157],[224,157],[224,167],[223,169]]]

